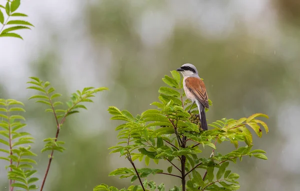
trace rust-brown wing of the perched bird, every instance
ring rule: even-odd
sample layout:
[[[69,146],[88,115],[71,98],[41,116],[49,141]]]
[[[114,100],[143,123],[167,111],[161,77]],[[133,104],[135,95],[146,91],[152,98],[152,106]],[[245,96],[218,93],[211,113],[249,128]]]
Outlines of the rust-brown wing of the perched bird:
[[[205,84],[200,78],[188,77],[185,79],[185,85],[204,107],[209,107]]]

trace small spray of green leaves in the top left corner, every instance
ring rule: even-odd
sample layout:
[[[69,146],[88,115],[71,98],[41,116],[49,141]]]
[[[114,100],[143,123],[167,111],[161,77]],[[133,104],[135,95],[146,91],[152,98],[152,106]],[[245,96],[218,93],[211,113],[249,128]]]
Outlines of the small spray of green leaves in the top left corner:
[[[0,28],[0,37],[16,37],[23,39],[19,34],[11,32],[20,29],[30,29],[33,26],[30,22],[20,19],[10,19],[12,17],[26,17],[24,13],[16,12],[20,5],[20,0],[7,0],[5,5],[0,4],[0,23],[2,24]],[[4,14],[6,14],[4,16]],[[8,26],[5,28],[7,25]]]

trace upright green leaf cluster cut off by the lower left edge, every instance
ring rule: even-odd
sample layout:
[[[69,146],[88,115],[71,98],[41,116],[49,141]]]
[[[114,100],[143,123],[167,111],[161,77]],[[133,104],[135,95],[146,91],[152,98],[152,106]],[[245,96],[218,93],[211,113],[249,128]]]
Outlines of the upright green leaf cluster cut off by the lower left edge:
[[[37,189],[34,184],[38,179],[32,177],[36,172],[32,164],[36,161],[32,157],[36,156],[30,151],[31,147],[22,147],[21,145],[33,143],[33,137],[30,133],[20,131],[26,126],[22,123],[25,118],[20,113],[25,112],[22,108],[23,103],[13,99],[0,99],[0,143],[7,146],[7,149],[0,149],[0,152],[7,154],[7,157],[0,159],[8,161],[9,168],[8,179],[11,181],[11,187],[18,187],[26,191]]]

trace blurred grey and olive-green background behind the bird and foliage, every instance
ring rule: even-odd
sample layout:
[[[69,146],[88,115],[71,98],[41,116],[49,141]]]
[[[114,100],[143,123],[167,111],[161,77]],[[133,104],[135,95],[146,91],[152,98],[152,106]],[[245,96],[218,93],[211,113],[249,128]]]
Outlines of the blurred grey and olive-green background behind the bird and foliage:
[[[42,140],[55,136],[55,123],[43,105],[27,101],[35,93],[26,89],[28,77],[50,81],[63,101],[86,86],[110,89],[87,104],[88,111],[67,119],[59,135],[67,150],[54,154],[45,191],[91,191],[101,183],[127,187],[129,180],[107,176],[129,167],[117,154],[108,155],[118,123],[109,120],[107,107],[134,115],[151,108],[161,78],[183,63],[194,64],[204,78],[213,102],[210,122],[269,115],[269,133],[254,139],[268,160],[244,158],[230,166],[240,175],[240,191],[300,190],[297,0],[22,0],[19,12],[35,28],[20,32],[23,41],[0,38],[0,97],[25,103],[39,178],[47,163],[47,154],[39,152]],[[225,144],[216,151],[232,149]],[[7,190],[4,165],[0,161],[1,191]],[[152,178],[167,188],[180,185]]]

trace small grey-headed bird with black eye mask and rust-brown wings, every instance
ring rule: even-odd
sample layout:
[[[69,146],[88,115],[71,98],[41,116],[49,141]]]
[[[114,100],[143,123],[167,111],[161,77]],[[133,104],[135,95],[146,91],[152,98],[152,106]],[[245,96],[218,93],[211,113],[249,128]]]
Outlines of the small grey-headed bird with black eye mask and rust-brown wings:
[[[199,118],[201,122],[201,128],[207,131],[207,122],[205,116],[205,108],[209,108],[208,96],[204,82],[198,75],[196,67],[192,64],[183,64],[176,71],[180,72],[183,76],[183,90],[186,97],[192,102],[191,107],[195,103],[199,110]]]

